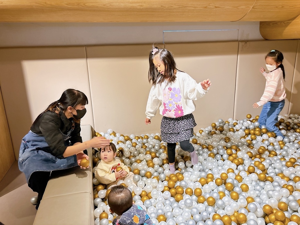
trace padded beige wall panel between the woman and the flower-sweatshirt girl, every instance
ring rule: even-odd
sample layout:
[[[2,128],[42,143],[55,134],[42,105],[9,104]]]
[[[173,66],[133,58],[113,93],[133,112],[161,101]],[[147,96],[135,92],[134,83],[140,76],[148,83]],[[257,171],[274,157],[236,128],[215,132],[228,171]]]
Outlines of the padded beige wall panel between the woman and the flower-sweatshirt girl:
[[[160,132],[159,112],[150,125],[145,124],[151,48],[151,44],[86,47],[95,131]]]

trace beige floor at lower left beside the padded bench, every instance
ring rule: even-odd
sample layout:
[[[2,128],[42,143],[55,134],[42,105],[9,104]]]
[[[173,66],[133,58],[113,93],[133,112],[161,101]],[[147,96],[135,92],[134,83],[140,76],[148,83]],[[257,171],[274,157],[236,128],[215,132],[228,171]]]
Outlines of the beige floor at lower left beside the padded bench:
[[[37,210],[30,199],[37,196],[19,171],[17,161],[0,182],[0,222],[4,225],[32,225]]]

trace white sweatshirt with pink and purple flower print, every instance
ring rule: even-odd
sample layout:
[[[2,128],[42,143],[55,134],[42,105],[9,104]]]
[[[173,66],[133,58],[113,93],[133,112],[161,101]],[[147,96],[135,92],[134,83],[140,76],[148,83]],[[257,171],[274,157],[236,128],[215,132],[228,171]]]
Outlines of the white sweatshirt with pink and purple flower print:
[[[152,119],[159,108],[161,115],[177,118],[188,115],[195,111],[193,100],[203,97],[205,91],[187,73],[177,71],[175,82],[167,85],[167,82],[153,85],[146,106],[146,116]]]

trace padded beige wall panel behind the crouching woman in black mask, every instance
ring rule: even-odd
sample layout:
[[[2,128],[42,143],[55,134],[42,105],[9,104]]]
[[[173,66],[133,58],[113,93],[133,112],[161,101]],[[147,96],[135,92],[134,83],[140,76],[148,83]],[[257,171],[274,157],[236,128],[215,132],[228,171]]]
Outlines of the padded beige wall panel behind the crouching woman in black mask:
[[[2,48],[0,84],[16,158],[34,119],[67,88],[87,95],[82,125],[93,126],[84,46]]]

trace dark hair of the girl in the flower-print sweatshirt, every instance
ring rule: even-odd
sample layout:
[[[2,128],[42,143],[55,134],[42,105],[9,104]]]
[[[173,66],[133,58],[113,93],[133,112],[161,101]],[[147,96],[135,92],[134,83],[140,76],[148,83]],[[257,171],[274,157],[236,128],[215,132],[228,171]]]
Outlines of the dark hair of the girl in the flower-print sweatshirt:
[[[155,68],[155,65],[153,64],[153,59],[155,57],[158,57],[160,61],[164,63],[165,71],[164,75],[158,72],[158,70]],[[168,81],[167,84],[172,83],[176,80],[176,76],[174,75],[174,70],[178,70],[182,72],[181,70],[176,68],[176,62],[173,58],[173,55],[171,52],[169,52],[167,49],[152,46],[152,50],[149,54],[149,71],[148,71],[148,80],[149,83],[152,85],[155,84],[161,84],[165,80]]]

